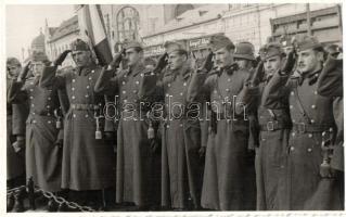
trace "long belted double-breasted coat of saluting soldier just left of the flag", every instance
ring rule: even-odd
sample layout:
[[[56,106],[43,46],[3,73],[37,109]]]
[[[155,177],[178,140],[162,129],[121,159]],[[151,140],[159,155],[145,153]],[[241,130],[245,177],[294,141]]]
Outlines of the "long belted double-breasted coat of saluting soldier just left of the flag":
[[[63,189],[100,190],[115,182],[113,148],[103,139],[95,139],[94,115],[99,115],[104,105],[104,95],[93,91],[100,72],[101,67],[90,65],[62,75],[55,75],[56,68],[49,66],[42,73],[40,85],[65,89],[69,102],[64,118]]]

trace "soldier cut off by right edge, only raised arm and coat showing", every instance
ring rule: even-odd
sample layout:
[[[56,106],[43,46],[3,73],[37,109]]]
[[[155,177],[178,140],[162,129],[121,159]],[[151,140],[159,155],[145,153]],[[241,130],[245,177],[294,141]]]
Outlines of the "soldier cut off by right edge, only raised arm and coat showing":
[[[310,200],[311,209],[344,209],[344,105],[343,105],[343,59],[329,52],[317,84],[317,91],[323,97],[334,97],[333,115],[336,123],[336,135],[322,132],[323,156],[320,174],[322,180]]]

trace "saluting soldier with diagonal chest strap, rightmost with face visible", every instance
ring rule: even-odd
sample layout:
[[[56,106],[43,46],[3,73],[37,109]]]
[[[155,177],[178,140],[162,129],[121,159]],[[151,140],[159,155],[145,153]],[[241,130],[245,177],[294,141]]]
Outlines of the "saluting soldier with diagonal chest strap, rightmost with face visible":
[[[295,55],[291,52],[283,68],[278,71],[268,85],[265,106],[280,108],[287,98],[293,124],[287,148],[287,209],[325,209],[313,204],[313,194],[324,176],[322,132],[330,137],[335,132],[333,97],[322,97],[317,91],[317,80],[323,68],[324,50],[315,38],[305,36],[297,40],[297,74],[291,75]],[[323,196],[323,195],[320,195]],[[328,209],[328,208],[326,208]]]

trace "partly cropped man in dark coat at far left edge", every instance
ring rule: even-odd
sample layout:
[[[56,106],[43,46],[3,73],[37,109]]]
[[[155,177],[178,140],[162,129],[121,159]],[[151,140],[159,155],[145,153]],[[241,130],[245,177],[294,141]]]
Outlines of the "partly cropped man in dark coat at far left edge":
[[[7,60],[7,92],[9,92],[12,80],[16,80],[20,72],[22,71],[22,65],[17,59],[9,58]],[[7,100],[8,189],[13,189],[25,184],[25,120],[27,118],[27,101],[10,103]],[[14,208],[13,206],[14,195],[10,194],[8,199],[8,212]]]

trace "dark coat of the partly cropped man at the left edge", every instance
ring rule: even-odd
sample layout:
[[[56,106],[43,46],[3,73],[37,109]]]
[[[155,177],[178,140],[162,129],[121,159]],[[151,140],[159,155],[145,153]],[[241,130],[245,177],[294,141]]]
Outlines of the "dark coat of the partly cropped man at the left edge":
[[[7,79],[7,92],[11,87],[11,79]],[[11,180],[25,173],[24,155],[15,153],[12,143],[16,136],[25,136],[25,120],[27,118],[27,101],[10,103],[7,100],[7,179]],[[25,149],[25,148],[24,148]]]

